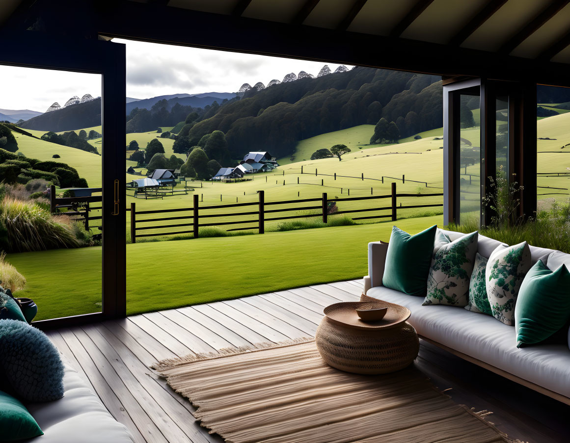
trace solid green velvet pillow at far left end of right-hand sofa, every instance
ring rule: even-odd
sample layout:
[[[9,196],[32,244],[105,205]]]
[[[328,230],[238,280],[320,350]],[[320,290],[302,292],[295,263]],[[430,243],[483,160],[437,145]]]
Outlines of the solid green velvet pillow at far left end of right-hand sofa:
[[[382,285],[409,296],[425,297],[437,225],[416,235],[392,227]]]

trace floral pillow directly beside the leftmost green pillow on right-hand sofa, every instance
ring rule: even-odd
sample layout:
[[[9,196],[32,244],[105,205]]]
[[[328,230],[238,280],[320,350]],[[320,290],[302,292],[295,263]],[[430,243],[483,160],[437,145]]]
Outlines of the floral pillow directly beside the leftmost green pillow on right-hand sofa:
[[[467,305],[478,236],[475,231],[439,248],[431,260],[422,305]]]

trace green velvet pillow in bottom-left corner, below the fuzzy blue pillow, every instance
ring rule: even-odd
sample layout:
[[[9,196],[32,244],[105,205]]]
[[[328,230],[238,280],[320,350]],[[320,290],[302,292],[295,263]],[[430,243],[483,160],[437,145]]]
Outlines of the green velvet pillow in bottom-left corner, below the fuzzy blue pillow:
[[[19,400],[0,391],[0,438],[24,440],[43,435],[42,430]]]

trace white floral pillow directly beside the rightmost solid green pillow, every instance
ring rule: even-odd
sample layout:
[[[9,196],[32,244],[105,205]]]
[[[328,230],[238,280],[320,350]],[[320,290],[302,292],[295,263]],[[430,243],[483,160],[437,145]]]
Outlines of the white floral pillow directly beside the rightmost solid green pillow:
[[[531,250],[523,241],[504,249],[495,249],[487,262],[485,280],[493,317],[515,326],[515,303],[520,285],[531,268]]]

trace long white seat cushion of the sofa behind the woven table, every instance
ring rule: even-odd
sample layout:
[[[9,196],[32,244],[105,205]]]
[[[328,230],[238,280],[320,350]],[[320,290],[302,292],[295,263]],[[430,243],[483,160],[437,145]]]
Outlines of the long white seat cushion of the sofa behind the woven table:
[[[564,344],[516,347],[515,328],[494,317],[456,306],[422,306],[422,297],[376,286],[369,297],[412,311],[408,320],[418,334],[524,380],[570,397],[570,350]]]

